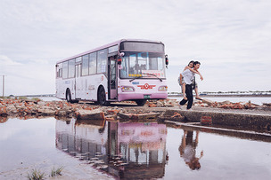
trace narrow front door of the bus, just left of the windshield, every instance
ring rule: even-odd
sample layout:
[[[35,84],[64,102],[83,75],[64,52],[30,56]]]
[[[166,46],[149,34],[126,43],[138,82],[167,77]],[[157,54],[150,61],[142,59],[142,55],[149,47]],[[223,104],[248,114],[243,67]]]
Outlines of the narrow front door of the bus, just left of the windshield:
[[[109,59],[109,81],[108,92],[110,99],[117,99],[117,62],[116,59],[111,57]]]

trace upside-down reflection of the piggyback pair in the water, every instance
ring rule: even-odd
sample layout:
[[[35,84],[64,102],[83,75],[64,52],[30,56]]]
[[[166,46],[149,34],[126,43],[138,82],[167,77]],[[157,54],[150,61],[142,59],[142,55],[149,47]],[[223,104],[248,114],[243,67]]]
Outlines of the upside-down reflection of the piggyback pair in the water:
[[[179,146],[179,152],[182,158],[184,158],[185,163],[191,169],[199,169],[201,168],[201,164],[199,160],[203,156],[203,151],[201,151],[201,156],[199,158],[196,157],[196,147],[198,145],[199,140],[199,131],[196,131],[196,137],[193,141],[193,131],[184,130],[184,136],[182,138],[182,144]]]

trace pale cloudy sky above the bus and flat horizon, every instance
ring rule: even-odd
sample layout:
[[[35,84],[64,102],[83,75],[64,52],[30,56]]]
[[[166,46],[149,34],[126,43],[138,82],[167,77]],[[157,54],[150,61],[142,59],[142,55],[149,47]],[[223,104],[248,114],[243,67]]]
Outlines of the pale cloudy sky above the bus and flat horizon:
[[[55,93],[55,63],[119,39],[165,44],[168,91],[271,90],[271,1],[0,0],[0,96]]]

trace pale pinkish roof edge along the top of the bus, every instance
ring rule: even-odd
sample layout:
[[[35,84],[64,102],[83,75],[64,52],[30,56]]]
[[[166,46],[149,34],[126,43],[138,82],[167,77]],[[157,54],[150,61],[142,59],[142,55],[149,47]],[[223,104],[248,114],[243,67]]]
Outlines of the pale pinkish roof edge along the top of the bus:
[[[98,48],[95,48],[93,50],[90,50],[90,51],[85,51],[85,52],[82,52],[82,53],[79,53],[75,56],[72,56],[70,58],[67,58],[67,59],[62,59],[62,60],[59,60],[56,62],[56,64],[58,63],[61,63],[61,62],[64,62],[66,60],[69,60],[69,59],[75,59],[75,58],[78,58],[80,56],[83,56],[83,55],[86,55],[88,53],[91,53],[91,52],[94,52],[94,51],[100,51],[100,50],[103,50],[105,48],[108,48],[108,47],[111,47],[111,46],[114,46],[114,45],[119,45],[121,42],[145,42],[145,43],[162,43],[160,41],[152,41],[152,40],[145,40],[145,39],[120,39],[119,41],[116,41],[116,42],[113,42],[113,43],[108,43],[108,44],[105,44],[103,46],[100,46]]]

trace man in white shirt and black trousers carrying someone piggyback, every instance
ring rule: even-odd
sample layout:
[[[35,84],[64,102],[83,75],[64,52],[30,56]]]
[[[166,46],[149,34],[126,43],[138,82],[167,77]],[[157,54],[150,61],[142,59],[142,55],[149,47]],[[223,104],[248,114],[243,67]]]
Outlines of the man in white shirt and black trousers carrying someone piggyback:
[[[194,62],[194,66],[193,69],[197,70],[201,67],[201,63],[199,61],[195,61]],[[184,72],[182,72],[180,74],[180,79],[182,79],[184,77],[184,81],[185,81],[185,95],[186,98],[183,98],[183,100],[180,101],[180,106],[185,105],[185,103],[188,101],[187,104],[187,110],[191,109],[192,105],[193,105],[193,80],[194,80],[194,73],[192,71],[190,71],[189,69],[186,69]]]

